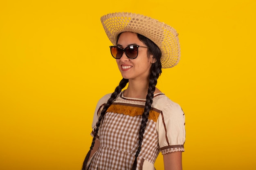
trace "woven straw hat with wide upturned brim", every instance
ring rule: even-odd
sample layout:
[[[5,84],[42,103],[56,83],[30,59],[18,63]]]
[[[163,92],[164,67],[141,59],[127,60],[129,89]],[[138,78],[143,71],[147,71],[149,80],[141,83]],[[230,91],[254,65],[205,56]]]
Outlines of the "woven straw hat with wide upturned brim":
[[[152,40],[162,51],[162,68],[171,68],[180,60],[180,43],[175,29],[153,18],[136,13],[109,13],[101,17],[106,34],[112,44],[117,44],[117,35],[130,31]]]

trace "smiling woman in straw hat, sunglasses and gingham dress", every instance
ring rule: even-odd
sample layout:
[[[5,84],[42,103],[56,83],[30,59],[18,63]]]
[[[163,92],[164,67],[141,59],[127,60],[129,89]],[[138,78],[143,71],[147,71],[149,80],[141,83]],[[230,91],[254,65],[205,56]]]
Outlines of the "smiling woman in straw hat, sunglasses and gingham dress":
[[[184,113],[156,88],[162,68],[180,59],[175,29],[135,13],[110,13],[101,22],[123,79],[97,104],[82,170],[155,170],[159,152],[165,170],[182,170]]]

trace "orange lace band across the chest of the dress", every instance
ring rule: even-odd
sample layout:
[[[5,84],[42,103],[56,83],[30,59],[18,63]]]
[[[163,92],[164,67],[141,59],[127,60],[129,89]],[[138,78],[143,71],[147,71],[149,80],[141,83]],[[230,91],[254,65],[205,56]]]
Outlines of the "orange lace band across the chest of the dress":
[[[144,106],[123,103],[112,103],[112,105],[108,108],[107,112],[119,113],[135,117],[143,114]],[[157,122],[160,113],[160,110],[151,108],[148,119]]]

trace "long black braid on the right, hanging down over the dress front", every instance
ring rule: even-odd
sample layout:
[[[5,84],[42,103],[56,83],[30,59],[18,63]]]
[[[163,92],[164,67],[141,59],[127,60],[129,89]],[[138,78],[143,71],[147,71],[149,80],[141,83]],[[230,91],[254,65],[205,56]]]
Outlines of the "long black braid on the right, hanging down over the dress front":
[[[149,111],[150,111],[151,105],[153,103],[155,86],[157,84],[157,79],[158,79],[158,77],[161,73],[162,66],[161,65],[160,66],[159,65],[155,66],[155,65],[153,65],[150,76],[149,76],[148,95],[146,97],[144,113],[142,114],[141,126],[140,126],[140,129],[139,129],[139,147],[138,147],[137,152],[135,154],[135,160],[134,160],[133,165],[132,165],[132,170],[136,170],[136,168],[137,168],[137,157],[139,156],[139,152],[141,150],[143,135],[144,135],[145,128],[146,128],[146,125],[147,125],[147,122],[148,122]]]

